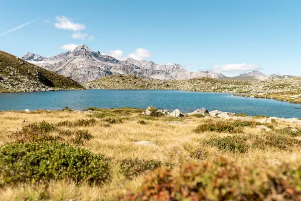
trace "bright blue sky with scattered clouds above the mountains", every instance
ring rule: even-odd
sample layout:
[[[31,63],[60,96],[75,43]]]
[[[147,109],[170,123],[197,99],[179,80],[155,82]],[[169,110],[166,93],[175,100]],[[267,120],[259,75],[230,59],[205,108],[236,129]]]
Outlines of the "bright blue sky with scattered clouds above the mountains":
[[[0,1],[0,50],[17,56],[86,44],[192,71],[301,76],[301,1]]]

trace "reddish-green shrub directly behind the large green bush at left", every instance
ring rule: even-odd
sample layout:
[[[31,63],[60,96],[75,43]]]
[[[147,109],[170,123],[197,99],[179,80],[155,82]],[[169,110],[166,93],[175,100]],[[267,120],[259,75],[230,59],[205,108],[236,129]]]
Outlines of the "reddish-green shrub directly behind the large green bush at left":
[[[52,136],[49,134],[51,131],[55,130],[57,130],[57,128],[53,124],[42,121],[22,127],[22,130],[13,133],[13,136],[19,143],[61,140],[59,136]]]

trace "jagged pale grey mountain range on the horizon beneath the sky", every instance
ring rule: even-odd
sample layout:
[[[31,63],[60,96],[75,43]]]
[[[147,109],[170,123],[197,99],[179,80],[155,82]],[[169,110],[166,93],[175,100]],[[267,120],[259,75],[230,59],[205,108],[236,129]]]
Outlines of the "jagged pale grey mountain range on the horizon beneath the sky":
[[[264,75],[257,70],[236,77],[227,77],[214,71],[191,72],[179,64],[160,65],[153,61],[139,61],[133,58],[124,61],[117,60],[114,57],[101,54],[99,51],[94,52],[86,45],[79,45],[72,52],[60,53],[53,57],[43,57],[29,52],[21,58],[82,83],[112,74],[136,75],[141,78],[159,80],[182,80],[199,77],[266,80],[292,77],[289,75]]]

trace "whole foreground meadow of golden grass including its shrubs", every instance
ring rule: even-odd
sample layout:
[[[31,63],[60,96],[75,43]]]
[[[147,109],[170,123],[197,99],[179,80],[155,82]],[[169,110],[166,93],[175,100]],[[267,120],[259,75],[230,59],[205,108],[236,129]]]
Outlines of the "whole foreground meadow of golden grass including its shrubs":
[[[89,110],[0,112],[1,200],[301,198],[297,123]]]

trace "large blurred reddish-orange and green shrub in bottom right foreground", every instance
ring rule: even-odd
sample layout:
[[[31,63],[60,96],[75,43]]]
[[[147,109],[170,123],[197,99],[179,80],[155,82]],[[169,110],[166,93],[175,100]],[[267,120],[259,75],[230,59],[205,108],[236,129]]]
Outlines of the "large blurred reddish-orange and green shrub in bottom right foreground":
[[[238,164],[223,158],[156,169],[123,200],[299,200],[301,164]]]

